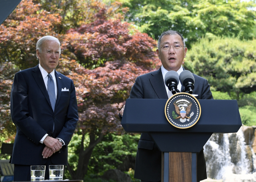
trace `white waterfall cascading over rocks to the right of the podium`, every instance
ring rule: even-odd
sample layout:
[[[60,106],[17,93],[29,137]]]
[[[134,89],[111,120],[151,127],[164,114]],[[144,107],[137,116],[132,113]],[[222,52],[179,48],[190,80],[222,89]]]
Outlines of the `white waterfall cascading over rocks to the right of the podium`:
[[[204,145],[207,177],[222,179],[224,174],[252,174],[256,156],[246,144],[240,128],[237,133],[217,133]]]

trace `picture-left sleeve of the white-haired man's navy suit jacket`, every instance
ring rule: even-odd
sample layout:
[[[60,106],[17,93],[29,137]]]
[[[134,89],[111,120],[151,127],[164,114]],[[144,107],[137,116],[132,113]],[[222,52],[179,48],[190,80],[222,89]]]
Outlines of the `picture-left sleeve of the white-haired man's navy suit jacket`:
[[[26,79],[20,72],[16,73],[14,77],[10,104],[11,117],[14,124],[23,134],[38,144],[47,132],[29,116],[28,86]],[[17,135],[22,133],[17,133]]]

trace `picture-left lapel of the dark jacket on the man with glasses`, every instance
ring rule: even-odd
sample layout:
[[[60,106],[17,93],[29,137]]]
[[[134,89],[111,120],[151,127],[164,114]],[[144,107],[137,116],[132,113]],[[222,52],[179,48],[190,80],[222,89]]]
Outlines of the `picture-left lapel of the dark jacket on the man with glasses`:
[[[149,80],[153,89],[155,90],[155,93],[157,93],[158,98],[168,98],[161,68],[151,74],[153,77],[151,77]]]

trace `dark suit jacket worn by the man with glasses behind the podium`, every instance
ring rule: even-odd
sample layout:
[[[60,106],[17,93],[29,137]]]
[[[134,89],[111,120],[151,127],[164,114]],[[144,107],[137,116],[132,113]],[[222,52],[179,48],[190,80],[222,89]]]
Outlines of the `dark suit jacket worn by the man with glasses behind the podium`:
[[[195,74],[193,76],[195,78],[193,94],[198,95],[196,98],[213,99],[207,80]],[[184,92],[183,86],[181,92]],[[167,99],[161,68],[137,77],[132,86],[130,98]],[[134,177],[145,181],[161,180],[161,151],[148,133],[142,133],[138,143]],[[197,153],[197,181],[206,178],[206,163],[202,150]]]

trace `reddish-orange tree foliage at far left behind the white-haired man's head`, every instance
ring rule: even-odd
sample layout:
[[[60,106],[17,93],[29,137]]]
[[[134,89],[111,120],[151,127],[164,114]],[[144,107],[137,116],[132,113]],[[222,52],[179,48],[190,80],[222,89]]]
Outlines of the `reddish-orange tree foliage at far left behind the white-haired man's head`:
[[[0,26],[0,63],[12,62],[21,70],[36,66],[37,40],[45,35],[60,38],[56,33],[60,22],[59,14],[40,9],[31,0],[22,1]]]

